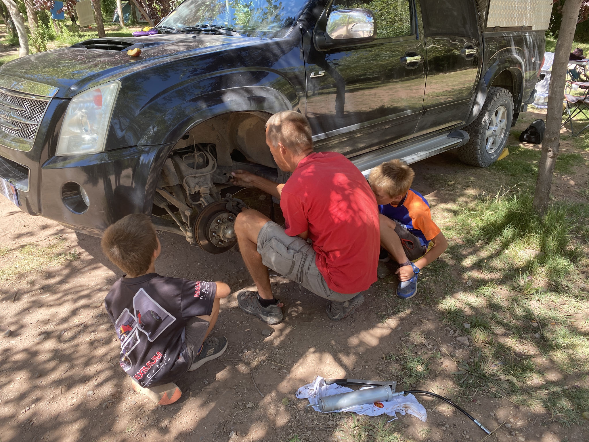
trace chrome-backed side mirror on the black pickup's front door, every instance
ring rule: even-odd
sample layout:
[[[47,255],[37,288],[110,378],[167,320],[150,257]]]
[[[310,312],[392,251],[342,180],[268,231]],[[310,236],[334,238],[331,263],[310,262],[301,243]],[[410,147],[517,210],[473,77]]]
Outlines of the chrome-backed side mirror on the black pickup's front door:
[[[369,9],[337,9],[327,18],[326,31],[319,31],[315,44],[319,50],[373,41],[376,37],[374,14]]]

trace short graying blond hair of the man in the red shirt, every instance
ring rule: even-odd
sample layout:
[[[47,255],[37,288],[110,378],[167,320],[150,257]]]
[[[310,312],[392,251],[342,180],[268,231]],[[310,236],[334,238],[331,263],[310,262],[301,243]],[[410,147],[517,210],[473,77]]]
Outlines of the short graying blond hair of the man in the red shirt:
[[[278,143],[296,153],[313,150],[313,138],[309,121],[295,111],[282,111],[274,114],[266,121],[268,138],[272,147]]]

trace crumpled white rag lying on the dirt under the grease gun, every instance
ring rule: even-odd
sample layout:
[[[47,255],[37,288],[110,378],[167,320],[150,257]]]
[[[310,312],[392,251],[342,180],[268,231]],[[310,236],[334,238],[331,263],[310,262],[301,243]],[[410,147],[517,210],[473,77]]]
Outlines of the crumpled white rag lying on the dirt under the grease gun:
[[[370,387],[365,387],[370,388]],[[362,389],[360,389],[362,390]],[[323,396],[331,396],[333,394],[341,394],[347,393],[349,391],[354,391],[352,388],[342,387],[342,385],[337,384],[325,384],[325,379],[320,376],[315,378],[315,381],[311,382],[310,384],[303,385],[299,388],[296,392],[296,397],[299,399],[309,398],[309,404],[313,405],[313,410],[319,410],[319,399]],[[381,414],[387,414],[389,416],[395,417],[395,413],[399,412],[402,415],[405,413],[412,414],[419,420],[425,422],[427,418],[427,413],[423,405],[421,405],[413,396],[412,394],[408,394],[406,396],[395,396],[390,401],[379,402],[381,407],[377,407],[375,404],[364,404],[364,405],[355,405],[353,407],[342,408],[342,410],[335,410],[331,411],[330,413],[342,413],[342,411],[351,411],[352,413],[357,414],[366,414],[368,416],[379,416]]]

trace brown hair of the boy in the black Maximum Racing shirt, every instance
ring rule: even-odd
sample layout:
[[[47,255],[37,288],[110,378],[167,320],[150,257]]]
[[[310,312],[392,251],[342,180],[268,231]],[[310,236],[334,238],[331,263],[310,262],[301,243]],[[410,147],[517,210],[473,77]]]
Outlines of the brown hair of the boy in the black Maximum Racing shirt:
[[[108,259],[133,278],[147,272],[157,236],[150,217],[134,213],[109,226],[100,244]]]

